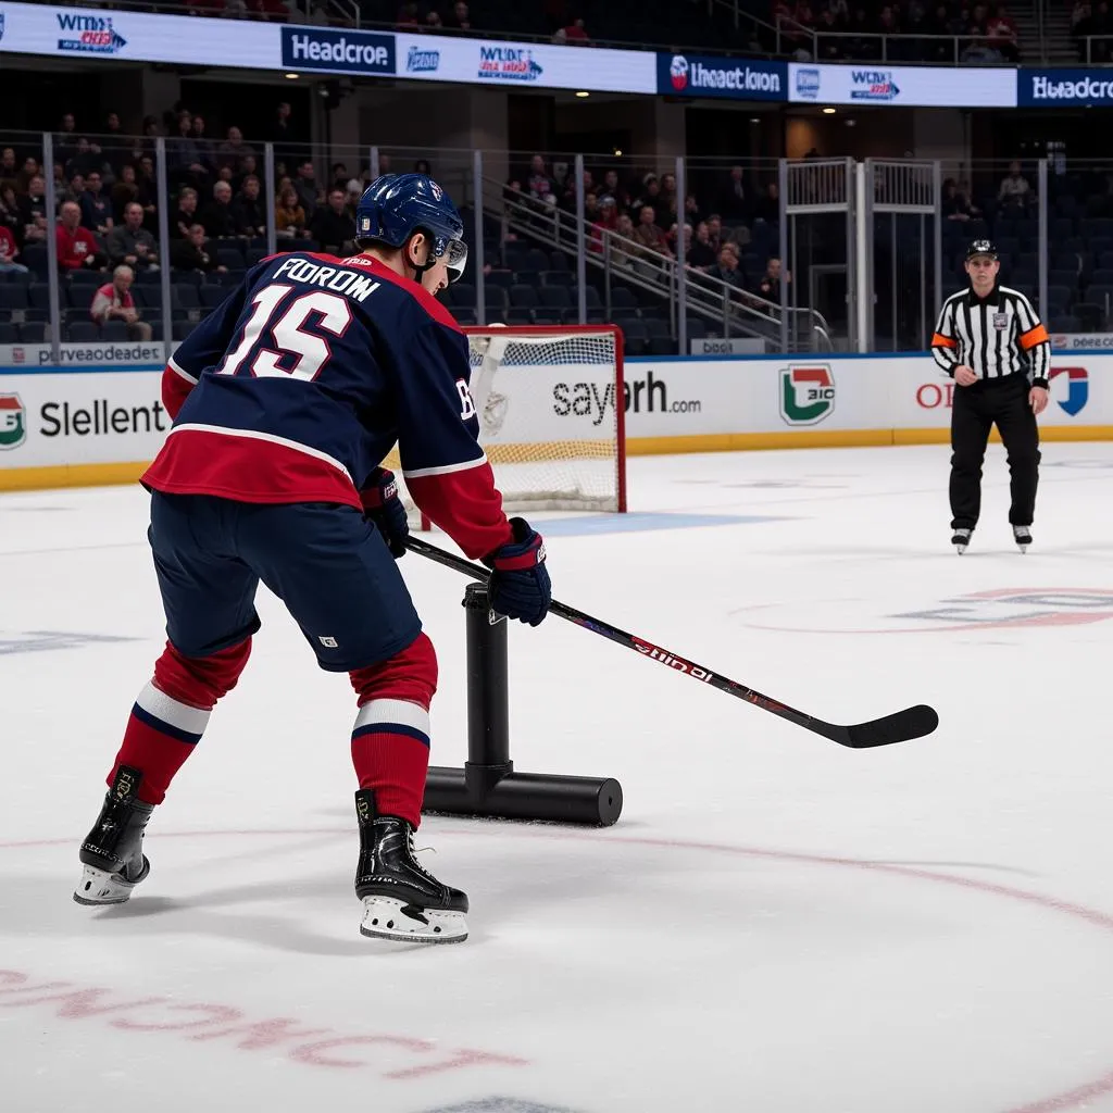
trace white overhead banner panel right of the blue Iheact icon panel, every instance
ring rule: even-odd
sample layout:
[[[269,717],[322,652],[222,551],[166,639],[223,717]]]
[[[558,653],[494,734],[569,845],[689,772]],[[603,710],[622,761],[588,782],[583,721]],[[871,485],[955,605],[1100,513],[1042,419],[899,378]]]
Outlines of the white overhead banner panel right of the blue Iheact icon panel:
[[[908,108],[1015,108],[1016,70],[963,66],[810,66],[789,62],[788,99],[797,104],[899,105]]]

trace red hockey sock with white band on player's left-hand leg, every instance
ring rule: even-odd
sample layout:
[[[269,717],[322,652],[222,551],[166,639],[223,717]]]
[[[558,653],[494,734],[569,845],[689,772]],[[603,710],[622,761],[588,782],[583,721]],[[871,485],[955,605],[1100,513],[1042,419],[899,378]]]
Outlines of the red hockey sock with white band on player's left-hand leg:
[[[120,766],[131,766],[142,774],[139,799],[161,804],[175,774],[200,741],[216,701],[236,686],[250,651],[249,638],[201,658],[185,657],[167,642],[154,680],[131,708],[108,785]]]

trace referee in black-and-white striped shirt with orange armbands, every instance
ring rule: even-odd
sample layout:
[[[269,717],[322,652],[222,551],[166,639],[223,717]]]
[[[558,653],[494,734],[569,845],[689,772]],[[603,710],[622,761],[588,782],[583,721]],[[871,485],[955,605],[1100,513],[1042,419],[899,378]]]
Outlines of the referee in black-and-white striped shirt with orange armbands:
[[[1008,453],[1008,521],[1021,552],[1032,544],[1040,480],[1036,415],[1047,405],[1051,341],[1032,303],[997,284],[1001,263],[988,239],[966,252],[969,287],[943,303],[932,355],[954,378],[951,410],[951,541],[966,552],[982,509],[982,461],[994,424]]]

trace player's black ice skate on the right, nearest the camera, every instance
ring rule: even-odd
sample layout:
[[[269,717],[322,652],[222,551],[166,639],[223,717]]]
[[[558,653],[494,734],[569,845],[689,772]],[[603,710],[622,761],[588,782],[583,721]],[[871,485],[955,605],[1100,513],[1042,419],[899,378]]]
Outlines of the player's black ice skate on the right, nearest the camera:
[[[381,816],[370,789],[355,794],[359,865],[355,895],[363,902],[359,930],[383,939],[461,943],[467,938],[467,896],[442,885],[414,857],[414,829]]]

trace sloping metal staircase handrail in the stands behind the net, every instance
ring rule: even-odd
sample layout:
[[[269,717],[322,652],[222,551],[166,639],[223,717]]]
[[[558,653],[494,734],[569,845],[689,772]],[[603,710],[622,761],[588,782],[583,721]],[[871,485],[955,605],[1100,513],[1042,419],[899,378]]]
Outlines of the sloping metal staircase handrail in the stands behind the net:
[[[503,224],[503,238],[513,230],[534,242],[574,254],[581,239],[587,248],[588,263],[604,273],[605,309],[610,315],[610,283],[620,275],[629,285],[637,286],[666,299],[672,335],[678,334],[677,293],[678,268],[671,256],[644,247],[637,240],[620,236],[609,229],[600,230],[587,220],[579,224],[575,216],[558,206],[545,205],[529,194],[513,190],[500,181],[484,179],[484,210]],[[498,200],[490,199],[492,197]],[[712,277],[693,267],[684,267],[684,292],[690,313],[712,322],[723,336],[748,334],[770,343],[780,341],[781,307],[751,294],[721,278]],[[790,347],[796,351],[833,351],[830,328],[823,315],[806,307],[788,307],[791,322]],[[818,344],[812,346],[811,338]]]

